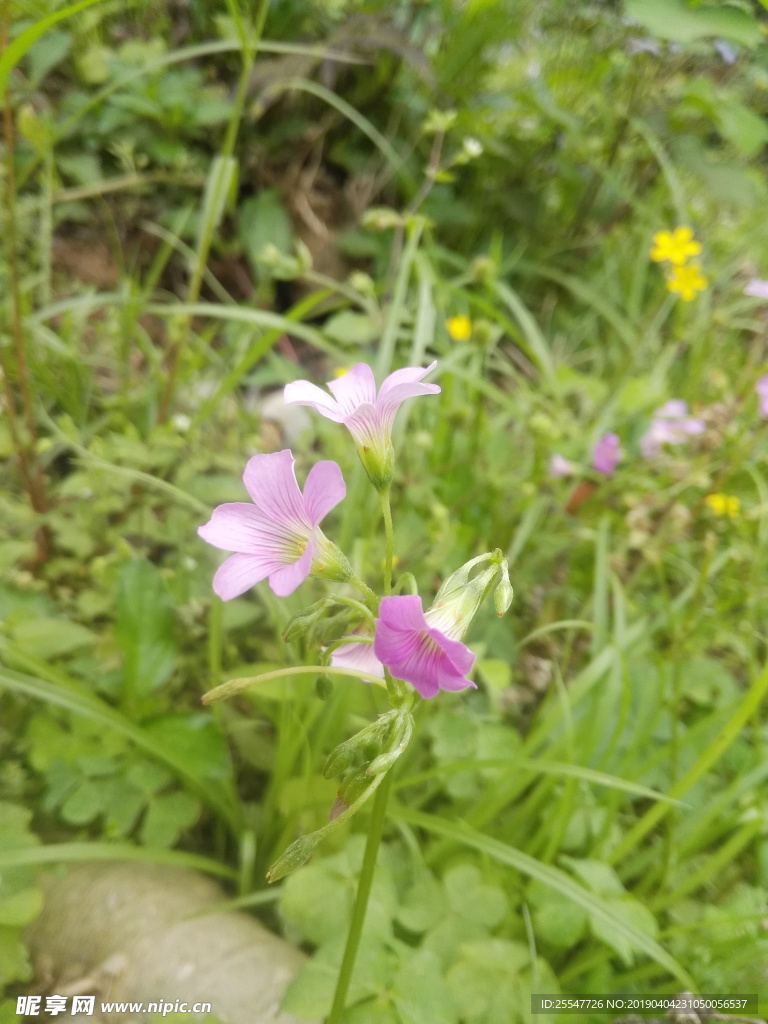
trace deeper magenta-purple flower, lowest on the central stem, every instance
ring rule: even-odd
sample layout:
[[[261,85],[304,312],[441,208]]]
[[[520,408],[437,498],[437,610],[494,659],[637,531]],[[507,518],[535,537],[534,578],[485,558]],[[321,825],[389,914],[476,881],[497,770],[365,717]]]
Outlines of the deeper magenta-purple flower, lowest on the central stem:
[[[461,641],[429,625],[418,595],[382,598],[374,653],[393,676],[411,683],[423,697],[433,697],[438,690],[475,686],[467,679],[474,654]]]

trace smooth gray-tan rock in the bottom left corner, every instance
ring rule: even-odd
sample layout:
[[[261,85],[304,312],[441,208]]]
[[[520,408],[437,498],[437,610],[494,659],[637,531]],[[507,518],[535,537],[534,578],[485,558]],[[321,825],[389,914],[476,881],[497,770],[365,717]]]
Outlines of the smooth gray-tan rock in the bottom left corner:
[[[101,1000],[176,999],[210,1002],[225,1024],[295,1024],[279,1007],[303,953],[248,914],[210,912],[226,898],[210,879],[110,863],[52,874],[44,885],[45,908],[27,935],[36,974],[48,994],[95,994],[96,1014],[84,1018],[90,1024]]]

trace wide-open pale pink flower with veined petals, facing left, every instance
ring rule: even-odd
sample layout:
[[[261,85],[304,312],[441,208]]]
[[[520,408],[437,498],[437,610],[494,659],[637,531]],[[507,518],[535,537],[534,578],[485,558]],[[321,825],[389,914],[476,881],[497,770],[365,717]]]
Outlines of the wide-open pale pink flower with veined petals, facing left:
[[[306,580],[312,567],[327,575],[329,569],[340,568],[335,549],[317,525],[346,494],[335,462],[312,466],[303,495],[288,450],[249,459],[243,482],[253,505],[219,505],[198,529],[214,548],[237,552],[213,578],[213,589],[223,601],[239,597],[267,578],[272,591],[286,597]]]

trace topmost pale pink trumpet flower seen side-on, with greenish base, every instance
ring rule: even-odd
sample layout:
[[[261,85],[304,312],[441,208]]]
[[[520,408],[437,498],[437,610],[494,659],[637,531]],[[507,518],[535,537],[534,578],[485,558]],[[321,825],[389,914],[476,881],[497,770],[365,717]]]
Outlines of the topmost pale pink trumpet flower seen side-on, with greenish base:
[[[386,378],[376,393],[374,372],[366,362],[357,362],[337,380],[329,381],[328,394],[309,381],[293,381],[285,390],[288,404],[311,406],[321,416],[343,423],[357,445],[357,454],[373,483],[386,487],[392,479],[392,424],[400,403],[422,394],[437,394],[436,384],[422,384],[437,366],[406,367]]]

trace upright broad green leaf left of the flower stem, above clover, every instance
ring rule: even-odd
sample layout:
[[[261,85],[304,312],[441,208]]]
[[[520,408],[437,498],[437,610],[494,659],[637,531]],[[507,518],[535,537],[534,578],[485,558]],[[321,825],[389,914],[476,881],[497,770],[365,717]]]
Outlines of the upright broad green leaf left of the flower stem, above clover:
[[[123,651],[126,703],[162,686],[176,660],[171,602],[158,569],[128,562],[118,581],[115,636]]]

